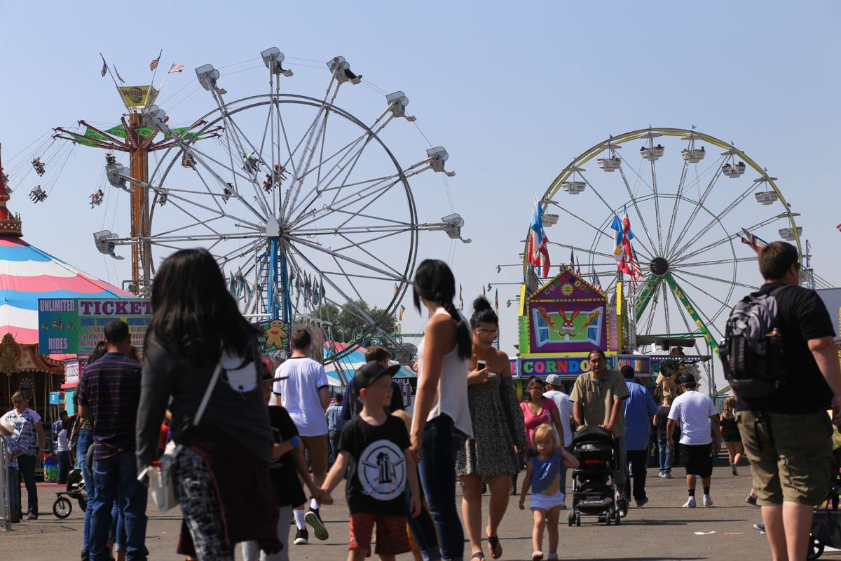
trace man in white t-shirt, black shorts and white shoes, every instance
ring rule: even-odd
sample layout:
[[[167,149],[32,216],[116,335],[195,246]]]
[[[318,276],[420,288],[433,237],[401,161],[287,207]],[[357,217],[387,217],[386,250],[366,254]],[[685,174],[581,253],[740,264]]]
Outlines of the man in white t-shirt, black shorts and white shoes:
[[[712,400],[696,391],[697,381],[694,376],[684,374],[677,383],[683,388],[672,402],[666,435],[669,447],[674,447],[672,432],[680,422],[680,455],[685,458],[686,490],[689,499],[685,508],[695,508],[695,487],[697,477],[701,477],[704,486],[704,506],[712,506],[710,497],[710,476],[712,475],[712,453],[721,442],[721,426],[718,411]]]

